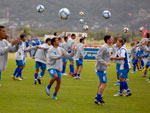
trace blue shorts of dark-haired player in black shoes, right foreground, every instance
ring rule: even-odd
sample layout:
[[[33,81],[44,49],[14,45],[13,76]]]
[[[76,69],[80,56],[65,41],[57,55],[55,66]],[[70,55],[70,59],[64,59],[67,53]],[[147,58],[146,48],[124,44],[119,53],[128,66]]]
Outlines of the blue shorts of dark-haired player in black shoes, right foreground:
[[[99,77],[99,80],[100,80],[100,83],[107,83],[107,74],[106,74],[106,71],[97,71],[96,72],[98,77]]]

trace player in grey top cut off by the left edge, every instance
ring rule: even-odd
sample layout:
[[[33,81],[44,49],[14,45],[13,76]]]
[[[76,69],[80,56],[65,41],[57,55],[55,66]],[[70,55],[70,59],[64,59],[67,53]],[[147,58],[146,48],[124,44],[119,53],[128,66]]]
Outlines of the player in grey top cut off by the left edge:
[[[16,52],[19,43],[19,39],[12,41],[9,43],[5,40],[7,37],[6,28],[4,26],[0,26],[0,86],[1,86],[1,72],[6,70],[7,62],[8,62],[8,52]]]

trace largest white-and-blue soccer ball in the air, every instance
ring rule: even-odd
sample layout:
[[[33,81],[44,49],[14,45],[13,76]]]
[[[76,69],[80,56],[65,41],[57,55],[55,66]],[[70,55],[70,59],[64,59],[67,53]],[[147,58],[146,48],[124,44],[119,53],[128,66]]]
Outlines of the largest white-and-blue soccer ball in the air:
[[[70,16],[70,11],[67,8],[62,8],[59,10],[58,15],[62,20],[67,20],[68,17]]]

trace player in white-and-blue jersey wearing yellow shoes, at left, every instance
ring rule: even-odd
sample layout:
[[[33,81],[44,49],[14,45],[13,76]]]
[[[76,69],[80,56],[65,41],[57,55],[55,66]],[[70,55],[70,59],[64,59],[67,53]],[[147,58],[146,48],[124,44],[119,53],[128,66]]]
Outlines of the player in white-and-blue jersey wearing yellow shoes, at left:
[[[19,49],[16,52],[16,65],[17,68],[15,69],[13,75],[11,76],[12,79],[16,80],[22,80],[22,70],[24,69],[25,66],[25,61],[26,61],[26,35],[21,34],[20,35],[20,43],[19,43]]]

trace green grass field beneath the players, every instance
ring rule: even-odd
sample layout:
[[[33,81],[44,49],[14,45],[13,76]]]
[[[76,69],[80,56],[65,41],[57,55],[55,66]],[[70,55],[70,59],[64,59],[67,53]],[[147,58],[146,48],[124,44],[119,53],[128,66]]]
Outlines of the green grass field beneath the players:
[[[98,77],[94,71],[95,62],[84,62],[81,80],[63,76],[58,100],[45,93],[50,76],[46,72],[42,85],[34,85],[34,60],[27,60],[23,71],[23,81],[12,80],[10,76],[16,68],[15,60],[9,59],[6,72],[2,73],[0,87],[0,113],[150,113],[150,84],[142,78],[142,72],[129,73],[131,97],[114,97],[119,87],[116,83],[115,64],[108,69],[108,84],[104,91],[104,106],[94,104]],[[67,68],[68,72],[68,68]]]

